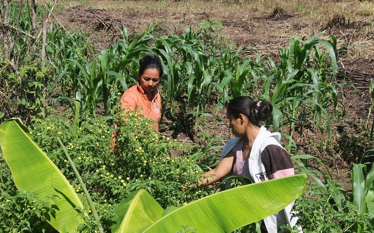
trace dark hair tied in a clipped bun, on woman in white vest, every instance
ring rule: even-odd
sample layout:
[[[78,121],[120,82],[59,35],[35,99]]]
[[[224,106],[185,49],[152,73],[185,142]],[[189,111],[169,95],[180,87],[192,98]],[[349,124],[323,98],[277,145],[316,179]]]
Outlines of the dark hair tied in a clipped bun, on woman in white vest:
[[[257,126],[260,126],[260,121],[266,121],[272,111],[271,103],[264,100],[254,101],[248,96],[236,97],[227,105],[227,112],[233,117],[238,118],[239,114],[243,114],[248,117],[252,124]]]

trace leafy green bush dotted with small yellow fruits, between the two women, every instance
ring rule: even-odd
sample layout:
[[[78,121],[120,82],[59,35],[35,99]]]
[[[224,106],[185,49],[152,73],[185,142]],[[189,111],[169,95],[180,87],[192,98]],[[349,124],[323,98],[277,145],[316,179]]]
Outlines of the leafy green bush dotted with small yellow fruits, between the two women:
[[[213,192],[211,187],[193,188],[202,173],[199,166],[184,156],[179,143],[154,131],[154,122],[137,112],[122,115],[117,121],[117,155],[109,147],[114,130],[110,121],[86,118],[79,127],[68,121],[49,116],[32,125],[31,136],[74,190],[83,194],[59,146],[56,136],[60,137],[95,202],[104,228],[110,226],[118,200],[130,191],[145,188],[164,208],[181,206]],[[179,156],[171,151],[178,151]],[[15,189],[13,185],[7,188]],[[95,229],[97,222],[91,214],[82,217],[85,224],[80,226],[81,232]]]

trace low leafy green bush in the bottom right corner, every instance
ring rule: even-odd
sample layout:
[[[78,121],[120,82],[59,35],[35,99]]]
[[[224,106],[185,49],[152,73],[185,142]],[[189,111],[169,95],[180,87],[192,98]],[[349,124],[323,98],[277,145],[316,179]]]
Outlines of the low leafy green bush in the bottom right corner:
[[[305,194],[296,200],[294,209],[298,212],[298,224],[302,226],[303,232],[353,233],[357,232],[357,225],[370,225],[374,215],[359,211],[346,195],[341,199],[341,204],[336,203],[331,197],[333,192],[345,193],[335,182],[325,186],[310,183]],[[372,229],[361,232],[372,232]]]

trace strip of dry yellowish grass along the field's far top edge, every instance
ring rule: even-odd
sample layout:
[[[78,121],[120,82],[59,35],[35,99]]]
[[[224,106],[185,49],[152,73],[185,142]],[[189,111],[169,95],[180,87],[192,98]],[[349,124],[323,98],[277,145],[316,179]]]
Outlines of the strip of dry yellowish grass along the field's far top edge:
[[[215,14],[216,12],[239,13],[256,16],[263,16],[270,13],[275,7],[281,7],[293,14],[303,14],[309,16],[331,17],[334,14],[345,12],[352,16],[368,16],[374,11],[374,3],[369,1],[341,1],[338,3],[328,3],[324,1],[288,0],[288,1],[118,1],[118,0],[78,0],[71,1],[71,5],[86,5],[92,8],[139,8],[144,10],[168,10],[173,13],[173,9],[181,12],[197,11]],[[110,6],[110,7],[108,7]],[[356,11],[358,9],[358,11]]]

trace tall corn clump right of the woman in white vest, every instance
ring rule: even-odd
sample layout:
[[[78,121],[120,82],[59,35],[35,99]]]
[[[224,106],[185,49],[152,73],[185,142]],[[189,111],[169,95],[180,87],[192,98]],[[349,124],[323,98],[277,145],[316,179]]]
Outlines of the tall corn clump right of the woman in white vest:
[[[273,130],[278,131],[279,127],[283,126],[283,118],[286,117],[290,123],[291,138],[295,123],[300,122],[303,125],[305,121],[312,121],[298,119],[300,115],[307,115],[305,111],[308,109],[315,127],[323,131],[321,117],[324,115],[327,120],[327,134],[331,131],[327,109],[333,103],[333,110],[335,110],[339,85],[332,84],[328,77],[334,77],[337,73],[336,39],[329,35],[331,40],[326,41],[316,39],[318,36],[312,36],[306,41],[292,39],[287,48],[280,50],[279,65],[275,65],[269,58],[271,75],[265,77],[261,98],[273,104]],[[318,46],[322,46],[325,50],[321,51]],[[270,90],[274,90],[272,96]],[[300,111],[302,106],[304,113]]]

